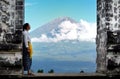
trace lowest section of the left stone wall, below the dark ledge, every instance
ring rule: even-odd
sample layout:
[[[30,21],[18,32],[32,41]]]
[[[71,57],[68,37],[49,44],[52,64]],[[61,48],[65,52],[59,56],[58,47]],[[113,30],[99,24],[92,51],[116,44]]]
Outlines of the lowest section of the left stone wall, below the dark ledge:
[[[22,75],[22,53],[0,54],[0,75]]]

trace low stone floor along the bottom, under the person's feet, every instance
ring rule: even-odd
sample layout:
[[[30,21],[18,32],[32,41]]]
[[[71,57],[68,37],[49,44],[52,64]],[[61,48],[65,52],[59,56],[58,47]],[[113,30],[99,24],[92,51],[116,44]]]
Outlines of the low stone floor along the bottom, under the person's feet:
[[[105,74],[100,73],[34,73],[34,75],[0,75],[1,78],[45,78],[45,77],[55,77],[55,78],[95,78],[95,79],[105,79],[105,78],[114,78],[114,77],[120,77],[120,75],[117,76],[108,76]]]

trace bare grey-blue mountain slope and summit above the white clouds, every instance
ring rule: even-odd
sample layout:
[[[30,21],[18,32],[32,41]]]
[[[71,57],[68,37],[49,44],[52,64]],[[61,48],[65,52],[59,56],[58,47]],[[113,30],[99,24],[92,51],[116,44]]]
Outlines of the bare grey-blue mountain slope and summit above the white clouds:
[[[60,17],[32,31],[30,33],[31,37],[40,37],[41,34],[49,34],[53,29],[57,29],[58,25],[64,21],[70,21],[71,23],[77,23],[75,20],[71,19],[70,17]]]

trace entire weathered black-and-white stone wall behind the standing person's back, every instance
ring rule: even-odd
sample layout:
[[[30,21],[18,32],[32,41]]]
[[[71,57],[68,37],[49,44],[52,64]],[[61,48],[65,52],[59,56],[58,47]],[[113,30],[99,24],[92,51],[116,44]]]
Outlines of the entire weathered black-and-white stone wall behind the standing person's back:
[[[24,0],[0,0],[0,75],[22,74]]]

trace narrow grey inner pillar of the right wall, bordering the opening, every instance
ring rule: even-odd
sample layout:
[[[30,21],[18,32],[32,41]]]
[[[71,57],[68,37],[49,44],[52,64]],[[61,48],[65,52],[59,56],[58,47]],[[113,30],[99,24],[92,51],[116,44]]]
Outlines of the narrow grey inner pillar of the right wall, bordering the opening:
[[[97,0],[97,72],[106,72],[106,23],[105,0]]]

